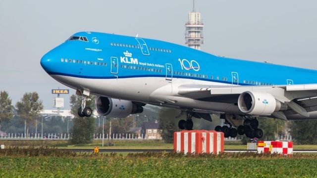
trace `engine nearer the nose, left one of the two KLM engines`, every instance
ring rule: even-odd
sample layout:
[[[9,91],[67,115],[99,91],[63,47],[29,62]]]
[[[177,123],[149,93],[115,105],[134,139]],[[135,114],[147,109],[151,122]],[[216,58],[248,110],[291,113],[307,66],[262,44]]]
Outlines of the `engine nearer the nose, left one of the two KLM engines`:
[[[98,114],[108,117],[125,118],[130,114],[143,112],[143,107],[127,100],[98,96],[95,99]]]

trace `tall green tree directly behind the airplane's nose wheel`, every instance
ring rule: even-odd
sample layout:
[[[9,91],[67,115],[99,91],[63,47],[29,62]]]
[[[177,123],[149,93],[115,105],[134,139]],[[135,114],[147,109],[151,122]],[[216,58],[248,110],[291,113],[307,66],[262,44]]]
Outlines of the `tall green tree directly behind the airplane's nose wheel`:
[[[90,95],[90,101],[86,102],[86,106],[90,106],[93,110],[95,109],[95,97]],[[75,116],[73,123],[74,126],[71,129],[72,144],[87,144],[91,143],[93,139],[93,134],[95,131],[95,118],[93,117],[79,117],[78,116],[78,108],[81,107],[82,96],[79,95],[71,95],[70,97],[70,105],[71,105],[71,113]]]

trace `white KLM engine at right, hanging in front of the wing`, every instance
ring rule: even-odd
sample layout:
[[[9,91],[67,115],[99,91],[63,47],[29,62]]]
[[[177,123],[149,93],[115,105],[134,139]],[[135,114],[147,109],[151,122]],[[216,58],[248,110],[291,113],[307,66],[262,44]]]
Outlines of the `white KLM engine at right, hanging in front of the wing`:
[[[270,115],[281,109],[281,103],[269,93],[245,91],[238,98],[241,112],[250,115]]]

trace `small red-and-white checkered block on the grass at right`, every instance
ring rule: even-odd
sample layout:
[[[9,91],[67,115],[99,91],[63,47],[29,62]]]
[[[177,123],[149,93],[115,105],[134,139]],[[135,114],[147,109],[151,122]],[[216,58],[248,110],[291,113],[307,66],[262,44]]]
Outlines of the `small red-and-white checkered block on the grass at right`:
[[[293,142],[258,141],[258,153],[293,154]]]

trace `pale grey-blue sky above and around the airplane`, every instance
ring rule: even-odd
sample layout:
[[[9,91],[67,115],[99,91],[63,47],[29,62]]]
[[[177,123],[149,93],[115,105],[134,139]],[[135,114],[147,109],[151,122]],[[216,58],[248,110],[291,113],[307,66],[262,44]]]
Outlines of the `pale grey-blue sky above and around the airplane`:
[[[80,31],[184,45],[192,0],[0,0],[0,90],[12,103],[36,91],[68,89],[42,69],[41,57]],[[205,24],[202,50],[220,56],[317,69],[316,0],[196,0]],[[75,93],[71,89],[71,93]],[[69,109],[69,95],[65,95]]]

